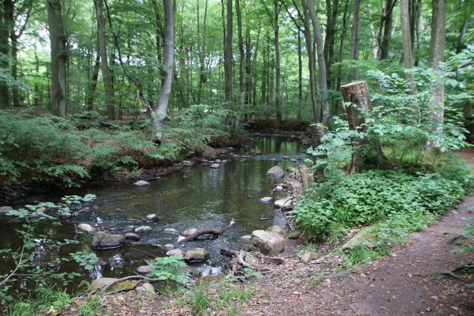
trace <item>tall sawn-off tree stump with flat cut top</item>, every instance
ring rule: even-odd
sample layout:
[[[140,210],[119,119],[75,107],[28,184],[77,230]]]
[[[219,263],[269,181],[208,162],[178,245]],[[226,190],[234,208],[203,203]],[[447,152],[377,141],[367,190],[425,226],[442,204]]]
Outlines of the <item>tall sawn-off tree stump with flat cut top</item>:
[[[372,112],[372,101],[370,101],[370,92],[366,81],[351,82],[341,85],[341,92],[344,102],[350,102],[352,105],[347,107],[347,118],[349,121],[349,130],[366,133],[369,127],[363,116],[364,112]],[[358,171],[360,166],[370,164],[380,166],[386,161],[383,155],[380,142],[373,141],[367,135],[364,137],[352,137],[353,153],[351,157],[351,165],[347,170],[347,174],[353,174]],[[374,146],[376,150],[375,158],[371,158],[362,154],[362,147]]]

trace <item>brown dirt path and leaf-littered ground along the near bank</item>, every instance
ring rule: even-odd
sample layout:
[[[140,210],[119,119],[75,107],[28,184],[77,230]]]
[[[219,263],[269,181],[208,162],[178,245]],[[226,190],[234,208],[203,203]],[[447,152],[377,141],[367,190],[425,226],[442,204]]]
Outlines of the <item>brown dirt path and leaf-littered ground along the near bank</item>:
[[[474,152],[461,154],[474,164]],[[278,256],[284,263],[268,265],[263,276],[254,278],[247,286],[255,292],[247,302],[237,299],[236,313],[232,315],[472,316],[474,288],[467,284],[474,282],[473,269],[450,275],[456,266],[474,262],[472,250],[452,252],[466,242],[472,243],[461,236],[462,227],[467,224],[462,218],[474,215],[469,209],[472,207],[474,195],[466,196],[451,208],[455,213],[447,211],[446,216],[426,231],[412,234],[406,243],[393,248],[390,255],[349,269],[340,260],[344,258],[342,252],[289,240],[285,252]],[[352,231],[345,239],[355,233]],[[298,254],[318,247],[319,260],[308,265],[299,263]],[[209,291],[214,293],[214,289]],[[179,304],[181,296],[179,292],[105,296],[101,298],[101,315],[195,315],[191,302]],[[77,304],[82,303],[77,301]],[[75,315],[75,310],[71,306],[64,315]],[[210,303],[201,315],[231,313]]]

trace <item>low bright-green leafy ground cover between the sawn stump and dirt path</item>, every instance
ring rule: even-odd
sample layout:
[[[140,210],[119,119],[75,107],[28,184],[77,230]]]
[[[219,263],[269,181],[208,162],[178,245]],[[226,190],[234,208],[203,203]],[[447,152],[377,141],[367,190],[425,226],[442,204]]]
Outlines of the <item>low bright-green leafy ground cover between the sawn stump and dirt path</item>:
[[[438,213],[463,194],[457,181],[439,174],[372,170],[319,184],[312,196],[301,197],[294,212],[299,225],[325,235],[331,225],[348,228],[399,214]]]

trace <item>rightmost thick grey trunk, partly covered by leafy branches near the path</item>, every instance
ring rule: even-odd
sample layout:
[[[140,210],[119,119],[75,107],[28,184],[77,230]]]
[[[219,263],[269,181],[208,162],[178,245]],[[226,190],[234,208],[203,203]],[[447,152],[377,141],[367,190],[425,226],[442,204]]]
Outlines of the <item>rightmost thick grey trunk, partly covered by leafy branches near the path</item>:
[[[444,40],[446,37],[446,0],[432,0],[430,67],[440,70],[439,63],[444,61]],[[438,80],[433,93],[432,116],[444,123],[444,80]],[[442,127],[440,128],[442,130]]]

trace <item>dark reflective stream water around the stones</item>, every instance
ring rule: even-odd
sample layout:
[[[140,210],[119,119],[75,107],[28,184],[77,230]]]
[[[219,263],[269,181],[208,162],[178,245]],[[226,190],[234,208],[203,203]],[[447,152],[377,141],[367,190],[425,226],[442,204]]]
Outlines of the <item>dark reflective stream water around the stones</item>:
[[[285,192],[273,192],[275,185],[282,180],[267,176],[267,170],[275,165],[279,165],[283,170],[290,166],[294,167],[295,163],[290,162],[289,159],[283,159],[285,155],[291,159],[298,158],[299,164],[303,163],[304,158],[309,158],[301,153],[308,146],[279,136],[256,137],[250,145],[251,148],[237,150],[235,155],[243,156],[250,149],[257,149],[262,152],[262,155],[249,158],[219,157],[221,160],[228,160],[226,163],[221,163],[219,169],[211,169],[210,165],[198,163],[168,174],[159,181],[151,181],[151,185],[144,188],[130,186],[128,182],[109,187],[75,190],[74,195],[94,194],[97,196],[93,201],[78,204],[77,209],[74,209],[98,205],[97,218],[86,214],[72,220],[61,220],[62,226],[52,225],[49,220],[41,221],[37,224],[36,236],[46,235],[51,239],[45,242],[46,240],[40,237],[36,240],[38,245],[63,239],[75,239],[80,242],[75,245],[53,247],[50,250],[40,246],[40,251],[35,253],[33,266],[47,267],[56,257],[67,257],[68,253],[73,251],[92,251],[90,249],[91,237],[75,233],[74,225],[88,223],[97,226],[101,221],[109,220],[118,224],[118,227],[113,230],[115,232],[123,232],[123,228],[127,225],[151,226],[153,231],[142,235],[142,240],[137,243],[127,242],[115,249],[94,250],[102,263],[95,265],[91,273],[80,269],[75,262],[61,265],[59,272],[77,271],[81,273],[81,279],[88,281],[102,276],[133,275],[139,266],[147,264],[145,260],[153,259],[150,255],[158,257],[166,255],[164,248],[150,244],[155,241],[159,245],[171,243],[183,251],[196,247],[205,248],[210,252],[209,261],[194,265],[194,269],[200,270],[203,275],[219,273],[220,263],[216,257],[221,248],[245,249],[247,244],[240,242],[239,237],[251,234],[254,230],[267,229],[272,225],[285,227],[284,216],[274,209],[273,202],[268,204],[259,202],[262,197],[287,196]],[[269,158],[276,158],[277,161],[270,161]],[[30,197],[12,206],[18,208],[33,201],[60,203],[61,197],[70,194],[70,192],[58,192]],[[149,222],[145,219],[146,215],[152,213],[158,215],[160,218],[158,222]],[[202,236],[198,240],[178,243],[178,234],[164,232],[165,228],[174,228],[178,232],[188,228],[220,229],[229,225],[232,218],[237,223],[235,228],[226,231],[218,238],[211,239]],[[20,245],[18,234],[14,229],[21,229],[21,225],[22,223],[9,222],[9,218],[6,217],[0,219],[2,236],[0,249],[15,249]],[[6,265],[1,266],[0,274],[6,273]],[[81,279],[77,278],[71,286],[77,286]]]

